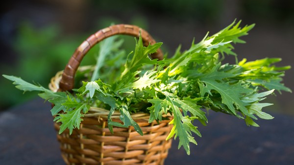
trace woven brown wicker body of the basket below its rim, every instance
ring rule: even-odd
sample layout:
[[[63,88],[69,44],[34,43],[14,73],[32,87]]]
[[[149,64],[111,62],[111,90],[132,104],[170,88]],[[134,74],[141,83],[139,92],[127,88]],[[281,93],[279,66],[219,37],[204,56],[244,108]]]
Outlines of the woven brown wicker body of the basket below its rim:
[[[80,129],[74,129],[72,135],[69,131],[57,135],[63,159],[69,165],[162,165],[172,144],[166,141],[171,130],[169,121],[135,121],[144,136],[133,127],[114,127],[111,134],[104,118],[84,117]],[[54,125],[58,132],[60,124]]]

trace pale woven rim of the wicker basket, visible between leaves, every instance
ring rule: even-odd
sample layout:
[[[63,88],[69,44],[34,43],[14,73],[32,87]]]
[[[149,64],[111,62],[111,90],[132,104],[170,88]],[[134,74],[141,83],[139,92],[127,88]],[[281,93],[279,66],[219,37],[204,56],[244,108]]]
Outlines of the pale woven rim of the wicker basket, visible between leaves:
[[[87,66],[80,66],[78,68],[79,71],[83,71],[83,70],[87,70],[87,69],[92,69],[92,65],[87,65]],[[62,71],[59,71],[55,74],[54,77],[51,78],[50,83],[49,83],[49,89],[53,92],[57,92],[59,89],[59,82],[61,80],[62,77]],[[108,118],[108,114],[109,114],[109,110],[107,109],[103,109],[103,108],[99,108],[99,107],[94,107],[91,106],[89,108],[89,112],[87,114],[84,114],[84,117],[99,117],[99,118],[103,118],[103,119],[107,119]],[[111,115],[111,119],[119,119],[120,118],[121,113],[120,112],[114,112]],[[136,112],[136,113],[132,113],[130,114],[133,120],[149,120],[150,114],[148,113],[144,113],[144,112]],[[171,114],[162,114],[162,117],[164,118],[170,118],[172,117]]]

